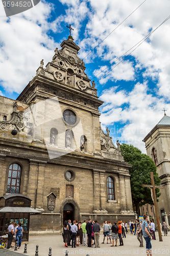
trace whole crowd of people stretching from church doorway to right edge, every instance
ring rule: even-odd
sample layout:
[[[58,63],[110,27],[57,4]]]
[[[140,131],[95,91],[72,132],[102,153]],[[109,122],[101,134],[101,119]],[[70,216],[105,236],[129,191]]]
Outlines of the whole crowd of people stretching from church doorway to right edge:
[[[139,219],[136,219],[134,223],[129,221],[129,229],[130,233],[137,237],[139,247],[143,247],[143,239],[145,240],[147,254],[152,256],[151,240],[156,240],[154,221],[148,221],[148,216],[144,215],[142,221]],[[163,225],[161,225],[161,232],[162,229],[164,231],[164,236],[167,236],[167,225],[165,222],[163,222]],[[68,220],[64,222],[63,230],[65,247],[76,247],[79,246],[79,244],[82,244],[83,246],[93,247],[94,245],[95,248],[100,248],[99,239],[101,228],[96,220],[84,220],[83,223],[76,220],[72,223],[72,225],[71,221]],[[127,222],[124,223],[123,221],[118,221],[118,223],[114,222],[112,225],[110,221],[105,221],[103,223],[104,237],[102,244],[104,244],[106,240],[106,243],[111,244],[110,246],[113,247],[117,246],[117,242],[119,240],[119,246],[124,246],[123,238],[126,238],[128,233]]]

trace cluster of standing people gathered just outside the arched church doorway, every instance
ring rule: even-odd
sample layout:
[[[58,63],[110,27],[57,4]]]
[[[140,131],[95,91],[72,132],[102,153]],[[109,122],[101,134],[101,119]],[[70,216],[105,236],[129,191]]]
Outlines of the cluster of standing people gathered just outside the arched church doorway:
[[[126,238],[126,233],[128,233],[126,224],[127,222],[124,223],[123,221],[119,221],[118,223],[114,222],[112,225],[110,221],[105,221],[103,223],[104,238],[102,244],[104,244],[105,239],[107,239],[107,244],[110,243],[111,246],[117,246],[117,241],[119,240],[119,246],[123,246],[123,238]],[[65,247],[76,247],[79,246],[79,244],[82,244],[83,246],[92,247],[94,245],[95,248],[100,248],[100,231],[100,225],[96,220],[84,220],[83,223],[76,220],[72,225],[70,220],[65,221],[63,225],[63,240]],[[72,242],[70,244],[71,240]]]

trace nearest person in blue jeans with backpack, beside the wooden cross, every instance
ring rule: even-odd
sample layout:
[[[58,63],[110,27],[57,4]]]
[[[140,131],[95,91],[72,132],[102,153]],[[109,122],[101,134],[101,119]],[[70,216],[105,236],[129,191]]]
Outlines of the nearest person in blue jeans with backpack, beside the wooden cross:
[[[147,256],[152,256],[152,245],[151,245],[151,233],[150,233],[150,228],[148,224],[148,216],[144,215],[143,216],[143,221],[142,221],[142,233],[143,233],[143,238],[146,241],[146,252]]]

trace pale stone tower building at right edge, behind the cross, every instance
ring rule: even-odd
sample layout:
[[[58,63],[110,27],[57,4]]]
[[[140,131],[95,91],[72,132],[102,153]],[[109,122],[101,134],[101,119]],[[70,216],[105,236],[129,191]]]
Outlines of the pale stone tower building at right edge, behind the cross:
[[[159,217],[170,224],[170,117],[166,114],[143,139],[161,179],[161,196],[158,201]]]

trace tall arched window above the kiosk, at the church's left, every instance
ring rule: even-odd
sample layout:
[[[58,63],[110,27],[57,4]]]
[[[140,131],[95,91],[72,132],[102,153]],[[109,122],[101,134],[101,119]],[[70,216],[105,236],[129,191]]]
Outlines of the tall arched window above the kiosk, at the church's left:
[[[19,194],[21,179],[21,166],[13,163],[9,167],[7,193]]]

